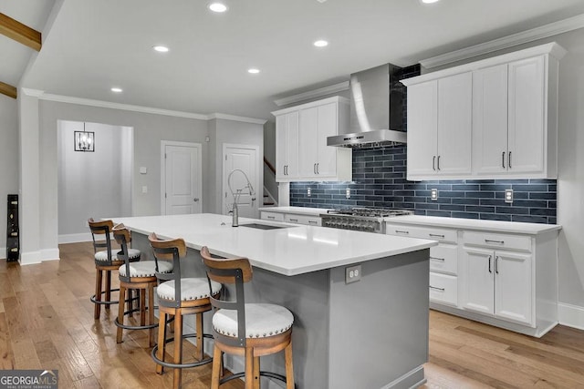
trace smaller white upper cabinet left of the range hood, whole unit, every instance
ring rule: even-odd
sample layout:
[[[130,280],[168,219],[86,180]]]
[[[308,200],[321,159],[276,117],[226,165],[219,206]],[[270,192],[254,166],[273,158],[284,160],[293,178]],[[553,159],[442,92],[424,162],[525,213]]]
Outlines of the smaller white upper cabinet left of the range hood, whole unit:
[[[351,179],[351,149],[327,146],[327,137],[347,132],[349,100],[329,97],[272,114],[276,116],[277,181]],[[290,136],[295,124],[296,136]],[[297,164],[293,168],[292,162]]]

